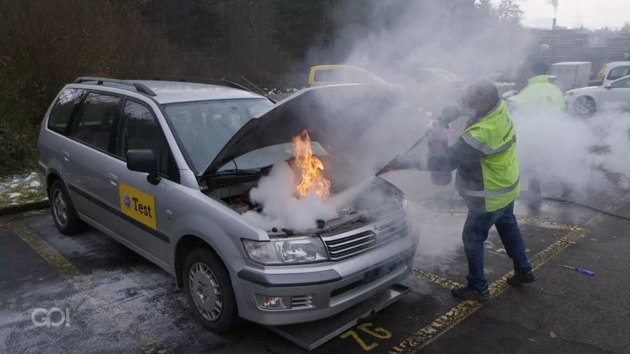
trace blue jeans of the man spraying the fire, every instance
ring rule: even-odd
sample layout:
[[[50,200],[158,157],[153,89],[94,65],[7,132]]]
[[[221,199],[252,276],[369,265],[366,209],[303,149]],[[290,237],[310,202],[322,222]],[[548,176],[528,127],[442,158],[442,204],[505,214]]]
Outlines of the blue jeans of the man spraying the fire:
[[[484,276],[484,241],[494,225],[507,255],[514,262],[514,272],[525,274],[531,265],[525,255],[525,243],[519,225],[514,217],[514,201],[505,208],[489,213],[468,210],[468,218],[464,224],[462,240],[466,259],[468,260],[468,285],[477,291],[488,288],[488,280]]]

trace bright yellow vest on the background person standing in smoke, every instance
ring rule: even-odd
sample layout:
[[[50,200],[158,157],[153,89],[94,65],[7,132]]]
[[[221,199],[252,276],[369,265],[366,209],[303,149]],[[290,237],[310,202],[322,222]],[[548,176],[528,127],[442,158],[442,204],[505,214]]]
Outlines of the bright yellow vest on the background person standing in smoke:
[[[518,94],[516,106],[544,113],[561,113],[566,104],[562,91],[549,83],[549,76],[538,75],[529,79],[527,86]]]

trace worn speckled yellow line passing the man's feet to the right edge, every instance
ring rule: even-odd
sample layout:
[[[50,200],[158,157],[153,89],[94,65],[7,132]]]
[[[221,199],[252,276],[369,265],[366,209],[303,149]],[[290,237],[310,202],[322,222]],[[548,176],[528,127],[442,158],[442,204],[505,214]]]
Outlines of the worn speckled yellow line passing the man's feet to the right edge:
[[[606,211],[615,211],[617,210],[617,208],[621,207],[629,201],[630,194],[626,194],[625,197],[611,204],[606,209]],[[589,221],[587,221],[586,225],[589,227],[595,227],[599,222],[603,220],[604,217],[605,215],[603,214],[597,214]],[[547,246],[544,250],[541,250],[530,259],[533,269],[538,269],[538,267],[542,266],[542,264],[545,264],[545,262],[552,259],[552,257],[558,255],[562,250],[568,248],[568,246],[575,243],[575,241],[580,239],[580,237],[584,236],[584,234],[586,234],[587,232],[589,232],[588,229],[576,227],[565,236],[562,236],[558,241],[555,241],[551,245]],[[509,285],[507,285],[506,280],[508,277],[512,276],[512,274],[513,271],[510,271],[489,285],[489,291],[493,297],[496,297],[507,290]],[[476,302],[473,300],[465,300],[463,302],[460,302],[453,308],[449,309],[449,311],[446,311],[440,317],[435,318],[435,320],[433,320],[428,325],[414,332],[411,336],[407,337],[407,339],[401,341],[398,345],[393,346],[388,351],[388,353],[417,353],[422,348],[428,346],[428,344],[435,341],[435,339],[442,336],[442,334],[448,332],[448,330],[455,327],[455,325],[461,323],[461,321],[463,321],[465,318],[468,318],[468,316],[472,315],[472,313],[475,313],[475,311],[480,309],[483,305],[483,302]]]

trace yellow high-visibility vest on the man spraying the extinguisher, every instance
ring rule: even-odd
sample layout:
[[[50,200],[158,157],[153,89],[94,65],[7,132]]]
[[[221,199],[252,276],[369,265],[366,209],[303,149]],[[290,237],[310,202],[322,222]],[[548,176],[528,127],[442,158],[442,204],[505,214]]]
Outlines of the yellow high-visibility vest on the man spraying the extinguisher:
[[[483,183],[475,182],[478,177],[458,176],[458,192],[484,198],[486,212],[496,211],[517,199],[521,184],[516,132],[507,104],[501,101],[488,115],[465,129],[461,138],[485,156],[479,161]]]

